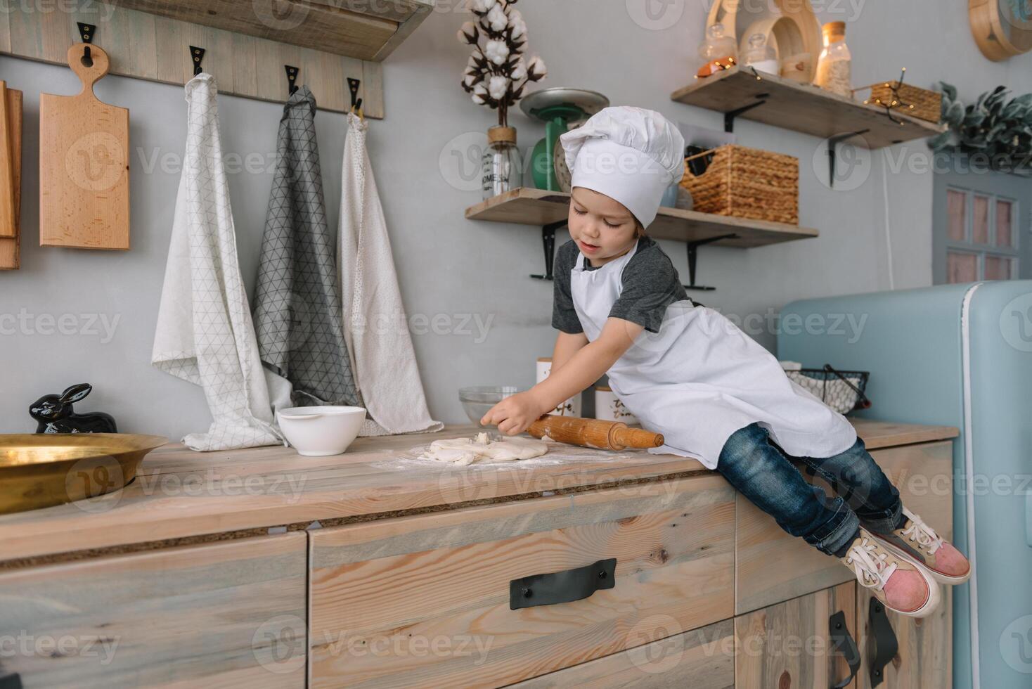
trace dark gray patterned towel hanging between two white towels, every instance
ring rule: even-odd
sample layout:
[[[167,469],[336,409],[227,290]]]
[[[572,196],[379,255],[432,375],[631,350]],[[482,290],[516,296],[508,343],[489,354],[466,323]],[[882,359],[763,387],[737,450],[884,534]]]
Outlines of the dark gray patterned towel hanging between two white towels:
[[[262,364],[293,386],[293,404],[361,406],[344,339],[315,113],[308,87],[294,92],[283,108],[258,266],[255,329]],[[275,400],[277,408],[284,401]]]

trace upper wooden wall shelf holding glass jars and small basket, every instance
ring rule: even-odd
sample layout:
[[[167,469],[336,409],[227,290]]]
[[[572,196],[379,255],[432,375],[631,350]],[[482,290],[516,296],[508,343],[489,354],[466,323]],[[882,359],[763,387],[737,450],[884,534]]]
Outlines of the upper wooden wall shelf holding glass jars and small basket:
[[[713,76],[697,79],[691,86],[671,94],[671,99],[719,112],[765,100],[738,117],[829,138],[838,134],[867,130],[849,138],[849,143],[868,149],[939,134],[945,125],[893,111],[900,125],[885,114],[885,108],[864,105],[861,101],[829,93],[818,87],[760,72],[732,67]]]

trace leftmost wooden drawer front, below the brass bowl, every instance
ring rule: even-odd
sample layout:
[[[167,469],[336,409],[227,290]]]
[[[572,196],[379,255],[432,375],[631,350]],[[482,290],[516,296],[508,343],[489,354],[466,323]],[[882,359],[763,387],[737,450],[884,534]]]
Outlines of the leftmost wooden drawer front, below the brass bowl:
[[[303,687],[303,533],[0,572],[0,677]]]

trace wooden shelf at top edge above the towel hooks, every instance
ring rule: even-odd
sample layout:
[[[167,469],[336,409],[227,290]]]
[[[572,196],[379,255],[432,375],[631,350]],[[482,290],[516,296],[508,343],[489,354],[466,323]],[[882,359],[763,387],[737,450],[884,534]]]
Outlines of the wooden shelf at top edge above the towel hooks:
[[[374,62],[390,55],[433,9],[433,0],[277,0],[256,2],[253,7],[238,0],[119,0],[118,4]],[[261,8],[268,17],[262,15]]]

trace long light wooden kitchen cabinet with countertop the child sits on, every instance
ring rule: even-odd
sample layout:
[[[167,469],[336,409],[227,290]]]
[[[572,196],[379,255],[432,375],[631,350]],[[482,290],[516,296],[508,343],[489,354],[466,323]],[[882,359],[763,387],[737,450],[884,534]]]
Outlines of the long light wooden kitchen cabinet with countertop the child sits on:
[[[950,537],[956,431],[866,423],[904,503]],[[867,590],[719,473],[567,448],[523,467],[399,463],[441,436],[340,458],[159,450],[102,513],[0,517],[0,684],[825,689],[849,676],[840,613],[862,660],[848,687],[871,686]],[[886,616],[879,689],[949,686],[944,593],[929,618]]]

